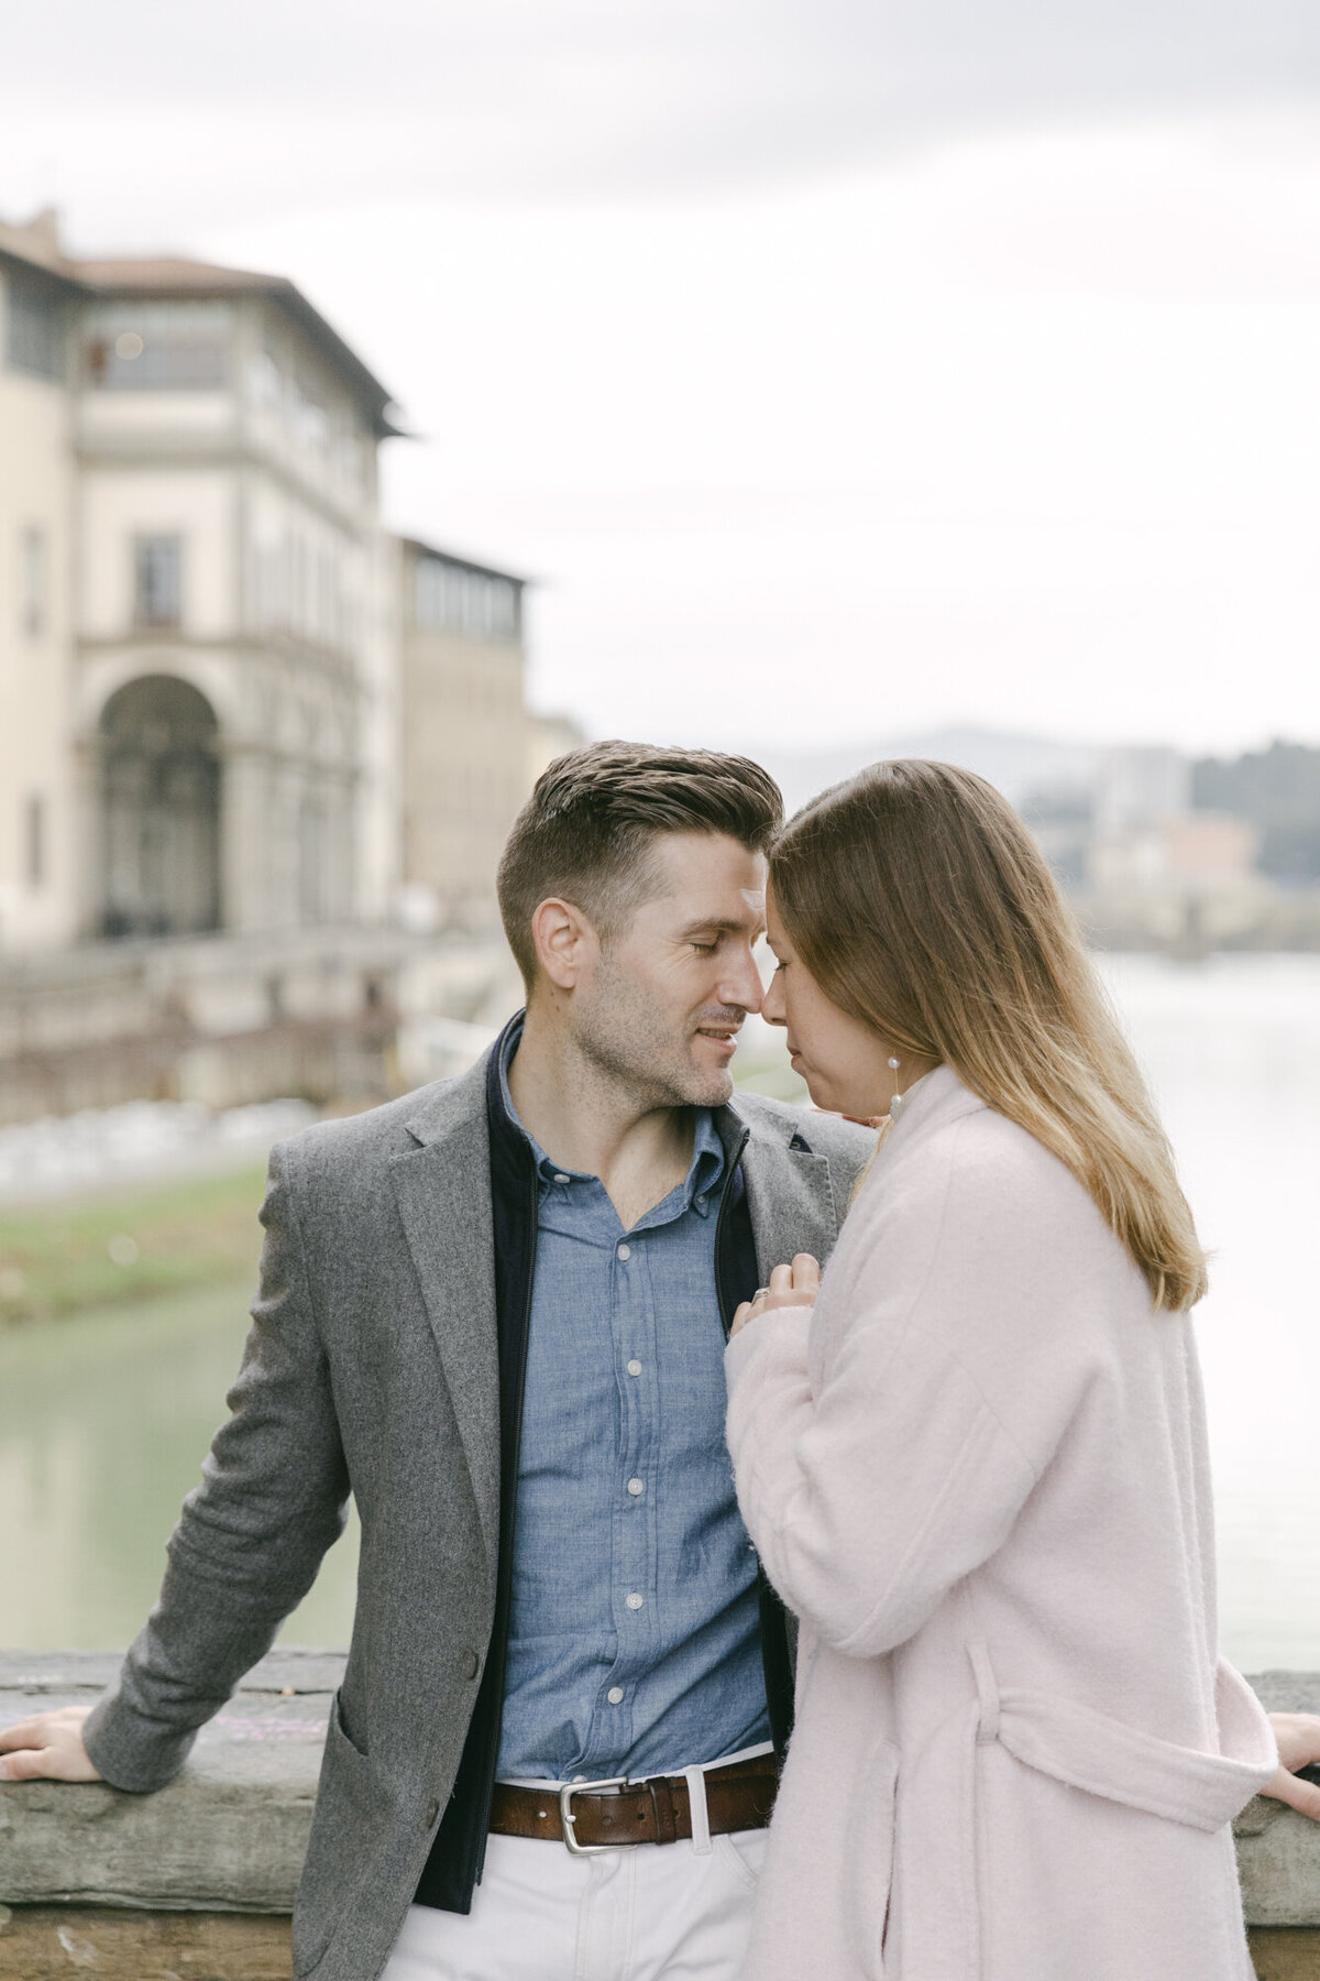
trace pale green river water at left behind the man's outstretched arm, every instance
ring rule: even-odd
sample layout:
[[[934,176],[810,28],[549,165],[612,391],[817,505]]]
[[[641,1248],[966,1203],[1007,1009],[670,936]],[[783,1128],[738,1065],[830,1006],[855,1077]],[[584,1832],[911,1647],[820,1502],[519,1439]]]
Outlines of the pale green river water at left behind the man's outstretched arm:
[[[160,1585],[247,1331],[251,1286],[0,1335],[0,1642],[127,1644]],[[346,1644],[356,1531],[281,1636]]]

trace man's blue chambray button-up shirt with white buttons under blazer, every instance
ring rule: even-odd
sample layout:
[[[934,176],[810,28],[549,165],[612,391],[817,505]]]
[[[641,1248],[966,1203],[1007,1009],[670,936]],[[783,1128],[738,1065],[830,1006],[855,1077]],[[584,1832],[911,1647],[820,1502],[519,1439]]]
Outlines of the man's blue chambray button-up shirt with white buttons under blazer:
[[[505,1105],[520,1127],[507,1080]],[[499,1775],[677,1773],[770,1739],[724,1444],[724,1149],[697,1109],[687,1177],[625,1232],[600,1177],[526,1139],[540,1189]]]

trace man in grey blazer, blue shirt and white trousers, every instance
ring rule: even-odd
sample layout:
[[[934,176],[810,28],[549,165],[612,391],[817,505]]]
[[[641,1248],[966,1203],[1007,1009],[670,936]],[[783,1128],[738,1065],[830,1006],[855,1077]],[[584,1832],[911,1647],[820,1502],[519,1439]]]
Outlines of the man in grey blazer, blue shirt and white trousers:
[[[234,1414],[160,1601],[85,1723],[4,1739],[14,1777],[160,1787],[352,1490],[301,1977],[738,1973],[792,1666],[724,1335],[780,1260],[829,1254],[873,1147],[732,1099],[778,822],[740,757],[546,771],[499,876],[526,1014],[461,1080],[273,1151]]]

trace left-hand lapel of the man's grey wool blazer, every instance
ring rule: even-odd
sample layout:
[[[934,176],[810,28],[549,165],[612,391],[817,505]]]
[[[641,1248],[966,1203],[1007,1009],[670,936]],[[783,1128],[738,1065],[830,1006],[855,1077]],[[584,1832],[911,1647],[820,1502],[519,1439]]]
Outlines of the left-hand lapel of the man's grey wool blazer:
[[[499,1343],[485,1060],[408,1123],[420,1147],[394,1161],[404,1236],[453,1401],[481,1535],[499,1549]]]

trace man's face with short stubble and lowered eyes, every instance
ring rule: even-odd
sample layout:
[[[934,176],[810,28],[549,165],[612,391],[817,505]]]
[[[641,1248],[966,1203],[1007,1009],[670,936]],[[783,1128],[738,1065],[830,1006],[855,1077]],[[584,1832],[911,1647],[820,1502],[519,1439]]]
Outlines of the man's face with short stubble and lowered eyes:
[[[716,1107],[738,1028],[760,1010],[766,862],[722,832],[665,832],[651,860],[655,889],[578,979],[570,1024],[643,1103]]]

